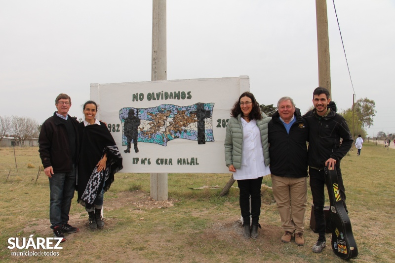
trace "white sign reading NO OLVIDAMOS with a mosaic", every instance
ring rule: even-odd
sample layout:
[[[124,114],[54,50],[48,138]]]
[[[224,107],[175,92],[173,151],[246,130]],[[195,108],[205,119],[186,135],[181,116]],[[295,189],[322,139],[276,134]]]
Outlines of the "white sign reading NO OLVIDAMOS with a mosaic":
[[[121,172],[229,173],[224,140],[248,76],[91,84],[123,157]]]

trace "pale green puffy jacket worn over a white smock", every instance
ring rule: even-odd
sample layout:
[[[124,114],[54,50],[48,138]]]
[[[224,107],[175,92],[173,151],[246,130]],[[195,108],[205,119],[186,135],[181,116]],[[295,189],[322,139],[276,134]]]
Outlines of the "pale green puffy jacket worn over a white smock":
[[[233,164],[236,169],[241,167],[241,151],[243,148],[243,128],[240,120],[241,114],[237,118],[229,119],[226,126],[225,136],[225,162],[226,166]],[[256,120],[256,124],[261,132],[263,156],[265,158],[265,165],[270,164],[269,157],[269,122],[272,118],[266,116],[262,112],[262,120]]]

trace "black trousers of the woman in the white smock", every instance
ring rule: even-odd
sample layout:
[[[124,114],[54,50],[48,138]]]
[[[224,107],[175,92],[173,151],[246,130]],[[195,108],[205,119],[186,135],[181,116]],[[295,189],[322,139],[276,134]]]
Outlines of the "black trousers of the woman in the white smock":
[[[259,224],[259,216],[261,214],[261,186],[262,178],[237,180],[238,188],[240,189],[240,210],[243,218],[243,225],[249,226],[250,215],[252,218],[252,225]],[[251,212],[250,212],[250,196],[251,196]]]

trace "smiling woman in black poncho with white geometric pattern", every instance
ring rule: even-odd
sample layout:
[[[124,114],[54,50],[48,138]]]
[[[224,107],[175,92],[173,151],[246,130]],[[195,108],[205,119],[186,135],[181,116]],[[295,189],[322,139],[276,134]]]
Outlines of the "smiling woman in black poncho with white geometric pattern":
[[[79,160],[77,166],[78,202],[89,215],[89,228],[102,229],[104,193],[114,182],[114,174],[122,169],[122,157],[107,126],[96,120],[97,104],[88,100],[83,105],[84,120],[79,124]]]

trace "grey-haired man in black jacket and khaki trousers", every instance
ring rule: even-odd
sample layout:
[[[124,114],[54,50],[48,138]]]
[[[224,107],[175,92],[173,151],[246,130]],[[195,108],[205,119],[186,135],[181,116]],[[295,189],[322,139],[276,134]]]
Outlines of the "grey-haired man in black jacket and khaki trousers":
[[[293,99],[278,100],[269,122],[270,171],[281,227],[281,241],[303,246],[307,202],[307,140],[309,130]]]

